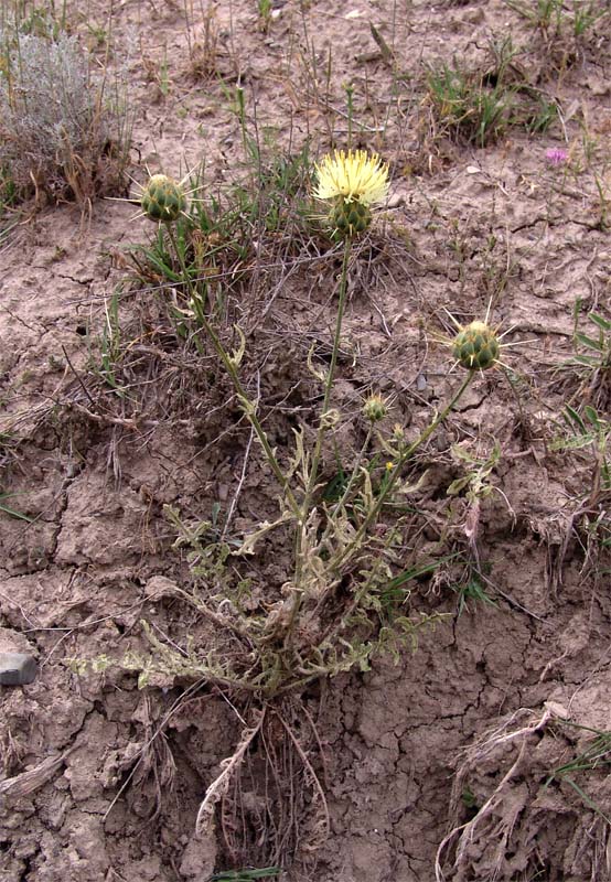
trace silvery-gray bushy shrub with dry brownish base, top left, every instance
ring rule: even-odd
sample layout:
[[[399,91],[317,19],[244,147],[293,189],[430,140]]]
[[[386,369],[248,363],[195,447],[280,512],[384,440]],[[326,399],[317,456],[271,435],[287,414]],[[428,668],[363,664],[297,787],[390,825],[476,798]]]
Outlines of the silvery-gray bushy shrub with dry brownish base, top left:
[[[22,194],[34,189],[54,198],[85,201],[112,189],[108,178],[120,176],[117,161],[127,159],[127,128],[117,106],[110,109],[101,83],[92,78],[76,39],[19,34],[0,42],[6,49],[0,75],[4,176]]]

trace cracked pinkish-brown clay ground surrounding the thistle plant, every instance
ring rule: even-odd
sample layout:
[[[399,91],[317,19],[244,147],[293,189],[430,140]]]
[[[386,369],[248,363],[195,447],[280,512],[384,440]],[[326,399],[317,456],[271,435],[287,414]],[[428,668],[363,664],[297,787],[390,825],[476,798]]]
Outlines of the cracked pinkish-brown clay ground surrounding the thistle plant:
[[[583,33],[574,6],[598,15]],[[558,6],[549,26],[529,0],[109,7],[68,2],[66,21],[95,69],[127,77],[136,181],[203,163],[205,203],[250,186],[253,142],[266,168],[349,140],[389,163],[352,255],[323,482],[363,443],[364,395],[388,396],[385,428],[410,438],[451,396],[449,313],[490,310],[519,345],[406,472],[394,572],[433,566],[396,613],[446,616],[414,650],[271,702],[197,836],[265,702],[124,663],[206,657],[216,628],[190,592],[227,610],[168,506],[237,547],[278,516],[278,486],[212,349],[170,333],[171,282],[137,279],[128,248],[158,235],[137,206],[39,204],[2,239],[0,638],[39,665],[0,687],[2,882],[610,879],[611,331],[590,318],[611,320],[609,4]],[[436,71],[471,104],[443,105]],[[506,103],[496,119],[478,96]],[[318,424],[308,354],[328,364],[341,248],[248,224],[213,295],[286,464]],[[291,578],[286,539],[229,559],[254,611]]]

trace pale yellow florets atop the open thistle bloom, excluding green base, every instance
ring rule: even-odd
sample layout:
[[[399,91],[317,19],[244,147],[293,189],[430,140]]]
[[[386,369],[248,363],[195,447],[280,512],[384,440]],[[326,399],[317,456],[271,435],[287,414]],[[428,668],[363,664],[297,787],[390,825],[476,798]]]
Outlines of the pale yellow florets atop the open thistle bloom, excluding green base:
[[[315,166],[318,186],[317,200],[360,202],[374,205],[383,202],[388,193],[388,164],[382,162],[377,153],[367,155],[366,150],[335,150]]]

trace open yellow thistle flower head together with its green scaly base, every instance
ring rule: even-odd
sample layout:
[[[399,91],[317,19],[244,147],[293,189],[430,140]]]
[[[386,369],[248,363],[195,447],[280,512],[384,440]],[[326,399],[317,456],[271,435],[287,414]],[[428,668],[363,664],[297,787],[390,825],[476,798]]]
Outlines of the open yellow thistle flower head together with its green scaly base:
[[[331,203],[329,219],[341,236],[364,233],[372,223],[372,206],[388,194],[388,164],[366,150],[334,150],[315,165],[314,198]]]

